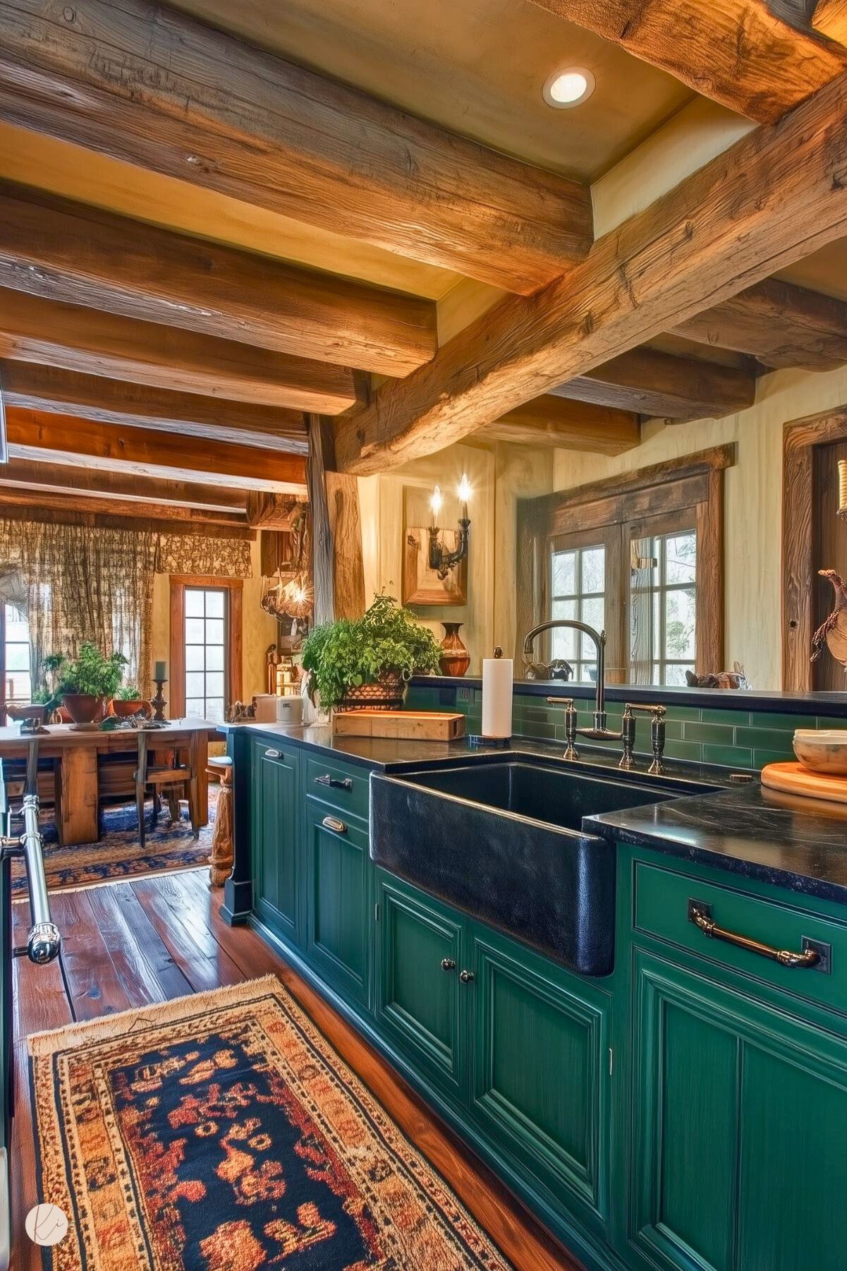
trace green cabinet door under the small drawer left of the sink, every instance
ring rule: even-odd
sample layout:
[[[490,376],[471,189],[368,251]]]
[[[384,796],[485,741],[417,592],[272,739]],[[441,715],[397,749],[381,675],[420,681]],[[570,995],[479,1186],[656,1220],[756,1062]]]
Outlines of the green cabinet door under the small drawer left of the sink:
[[[364,826],[306,799],[306,957],[370,1007],[371,858]]]

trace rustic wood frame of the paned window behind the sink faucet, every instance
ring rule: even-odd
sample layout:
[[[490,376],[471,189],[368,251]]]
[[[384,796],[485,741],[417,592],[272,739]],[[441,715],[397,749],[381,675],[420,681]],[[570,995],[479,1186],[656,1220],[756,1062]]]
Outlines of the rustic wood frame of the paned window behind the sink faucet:
[[[724,472],[735,463],[735,446],[715,446],[681,455],[634,473],[519,500],[517,513],[517,674],[523,666],[523,637],[547,614],[550,543],[563,535],[610,526],[629,529],[657,516],[691,512],[697,530],[697,671],[723,670],[724,663]],[[622,595],[620,578],[612,588]],[[608,588],[611,594],[613,590]],[[626,605],[617,624],[607,619],[608,666],[621,666],[626,646]],[[610,615],[611,618],[611,615]]]

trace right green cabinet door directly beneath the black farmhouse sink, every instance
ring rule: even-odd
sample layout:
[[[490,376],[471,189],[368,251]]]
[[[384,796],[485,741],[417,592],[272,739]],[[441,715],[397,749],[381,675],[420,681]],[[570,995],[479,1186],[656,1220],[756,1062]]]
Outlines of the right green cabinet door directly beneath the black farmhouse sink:
[[[554,1196],[607,1210],[608,995],[474,925],[475,1117]]]

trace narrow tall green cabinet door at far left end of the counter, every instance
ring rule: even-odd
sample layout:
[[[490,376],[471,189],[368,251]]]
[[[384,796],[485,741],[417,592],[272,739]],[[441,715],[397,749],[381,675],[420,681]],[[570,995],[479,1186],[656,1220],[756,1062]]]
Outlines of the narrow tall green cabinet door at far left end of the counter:
[[[297,750],[253,738],[253,905],[277,935],[300,943],[301,852]]]

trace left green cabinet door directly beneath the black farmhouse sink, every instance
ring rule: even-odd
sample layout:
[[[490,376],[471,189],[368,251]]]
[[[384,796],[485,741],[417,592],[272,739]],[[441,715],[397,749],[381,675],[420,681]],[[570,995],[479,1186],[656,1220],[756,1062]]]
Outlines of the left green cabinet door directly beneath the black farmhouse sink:
[[[394,1045],[452,1094],[462,1094],[466,985],[457,915],[377,874],[377,1017]]]

